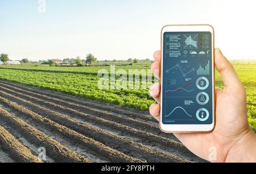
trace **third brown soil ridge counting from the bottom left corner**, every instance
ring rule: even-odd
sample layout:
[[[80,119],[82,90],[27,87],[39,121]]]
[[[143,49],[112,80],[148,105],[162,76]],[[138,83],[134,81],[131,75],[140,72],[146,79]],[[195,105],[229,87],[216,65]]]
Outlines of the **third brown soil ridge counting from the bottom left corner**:
[[[42,117],[41,115],[36,114],[23,106],[19,106],[16,103],[7,100],[6,98],[0,97],[0,103],[6,109],[9,109],[14,114],[18,115],[17,117],[30,119],[30,122],[33,122],[38,127],[44,126],[44,129],[55,132],[56,134],[61,135],[65,139],[68,139],[75,144],[82,145],[82,147],[90,151],[91,154],[100,156],[104,160],[111,162],[141,162],[139,159],[135,159],[131,156],[123,154],[122,152],[114,150],[113,148],[104,146],[104,144],[100,142],[81,135],[76,131],[68,129],[68,127],[59,125],[58,123]]]

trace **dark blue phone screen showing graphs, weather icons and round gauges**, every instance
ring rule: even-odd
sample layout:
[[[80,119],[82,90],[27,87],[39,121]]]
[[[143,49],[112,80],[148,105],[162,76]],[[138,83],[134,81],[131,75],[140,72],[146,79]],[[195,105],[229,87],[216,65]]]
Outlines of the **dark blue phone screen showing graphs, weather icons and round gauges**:
[[[164,33],[163,124],[212,124],[212,64],[211,32]]]

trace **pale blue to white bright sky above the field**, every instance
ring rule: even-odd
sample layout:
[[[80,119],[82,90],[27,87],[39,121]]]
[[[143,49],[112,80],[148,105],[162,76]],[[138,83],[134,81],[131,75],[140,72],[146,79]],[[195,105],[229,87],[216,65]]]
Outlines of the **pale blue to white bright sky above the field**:
[[[42,3],[43,2],[43,3]],[[11,60],[152,59],[166,24],[211,24],[228,59],[256,60],[251,0],[0,0],[0,53]]]

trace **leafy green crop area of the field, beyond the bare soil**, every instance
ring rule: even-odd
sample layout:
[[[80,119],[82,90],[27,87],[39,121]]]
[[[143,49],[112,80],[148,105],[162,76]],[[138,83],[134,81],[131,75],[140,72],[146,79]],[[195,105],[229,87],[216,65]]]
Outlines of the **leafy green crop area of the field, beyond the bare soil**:
[[[120,68],[125,71],[129,69],[147,70],[150,69],[150,63],[138,63],[131,66],[118,64],[115,67],[116,70]],[[234,64],[234,68],[245,85],[247,103],[256,103],[256,64]],[[100,77],[97,76],[97,72],[100,69],[106,69],[110,72],[110,64],[94,67],[2,65],[0,66],[0,78],[141,110],[148,110],[148,107],[155,102],[148,96],[150,84],[148,84],[147,89],[98,89]],[[221,89],[222,87],[220,74],[216,72],[216,88]],[[256,131],[256,106],[247,105],[247,107],[250,125]]]

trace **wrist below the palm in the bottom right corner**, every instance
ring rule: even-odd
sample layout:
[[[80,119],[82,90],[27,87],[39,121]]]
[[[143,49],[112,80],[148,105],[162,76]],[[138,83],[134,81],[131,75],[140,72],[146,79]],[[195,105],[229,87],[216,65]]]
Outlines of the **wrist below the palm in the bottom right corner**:
[[[249,131],[229,151],[226,162],[256,163],[256,134]]]

